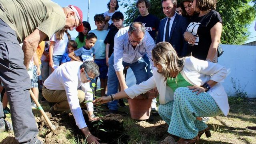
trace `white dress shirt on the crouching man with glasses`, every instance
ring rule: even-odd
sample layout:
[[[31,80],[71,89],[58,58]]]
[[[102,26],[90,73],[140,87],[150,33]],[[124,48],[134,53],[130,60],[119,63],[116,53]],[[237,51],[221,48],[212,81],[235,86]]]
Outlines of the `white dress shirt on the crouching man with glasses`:
[[[78,100],[78,88],[81,86],[85,92],[85,101],[92,100],[92,89],[89,82],[83,84],[80,78],[80,66],[82,62],[66,62],[61,64],[52,74],[44,81],[44,86],[49,90],[65,90],[70,110],[76,120],[79,129],[86,127],[84,116]],[[93,111],[92,102],[87,102],[88,111]]]

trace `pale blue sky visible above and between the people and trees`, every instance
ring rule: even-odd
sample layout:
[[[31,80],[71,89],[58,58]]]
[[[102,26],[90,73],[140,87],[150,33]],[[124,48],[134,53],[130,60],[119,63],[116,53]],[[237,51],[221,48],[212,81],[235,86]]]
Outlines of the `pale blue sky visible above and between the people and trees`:
[[[87,21],[87,14],[88,14],[88,0],[52,0],[53,2],[56,2],[60,6],[68,6],[70,4],[78,6],[82,12],[83,12],[83,21]],[[95,14],[101,14],[104,13],[108,10],[107,4],[109,0],[90,0],[90,10],[89,10],[89,23],[91,25],[92,29],[96,29],[96,26],[94,24],[93,17]],[[126,12],[126,8],[123,8],[120,6],[119,2],[119,9],[120,12],[124,14]],[[126,18],[126,16],[124,16]],[[254,30],[254,24],[255,21],[252,22],[249,28],[249,32],[251,32],[249,39],[247,40],[246,43],[256,41],[256,31]],[[69,32],[70,35],[74,38],[78,35],[78,32],[75,30]]]

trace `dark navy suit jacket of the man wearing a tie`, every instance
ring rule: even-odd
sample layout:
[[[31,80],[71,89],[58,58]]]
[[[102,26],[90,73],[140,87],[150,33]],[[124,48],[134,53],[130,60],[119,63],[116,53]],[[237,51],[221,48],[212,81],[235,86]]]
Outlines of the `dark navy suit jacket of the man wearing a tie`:
[[[164,37],[164,25],[166,23],[167,17],[162,19],[159,24],[158,35],[156,38],[156,44],[163,41]],[[187,42],[183,38],[183,33],[186,31],[188,26],[188,19],[176,14],[174,21],[172,23],[172,28],[169,36],[169,42],[172,44],[176,50],[178,56],[187,55]]]

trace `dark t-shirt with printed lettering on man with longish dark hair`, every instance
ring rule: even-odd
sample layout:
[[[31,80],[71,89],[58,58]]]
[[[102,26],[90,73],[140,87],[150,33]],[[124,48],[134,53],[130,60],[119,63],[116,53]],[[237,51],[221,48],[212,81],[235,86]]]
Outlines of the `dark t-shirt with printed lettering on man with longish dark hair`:
[[[148,14],[147,16],[139,16],[134,20],[134,22],[142,22],[145,26],[146,31],[150,34],[150,36],[155,40],[156,32],[158,31],[160,19],[152,14]]]

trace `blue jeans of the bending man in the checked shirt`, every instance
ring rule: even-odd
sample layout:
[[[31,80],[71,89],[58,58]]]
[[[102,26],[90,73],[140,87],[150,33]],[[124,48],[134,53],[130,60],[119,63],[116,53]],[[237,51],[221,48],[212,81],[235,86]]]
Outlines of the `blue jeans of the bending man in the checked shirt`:
[[[114,69],[114,54],[112,54],[108,60],[108,96],[110,94],[116,94],[118,92],[118,78],[116,76],[116,70]],[[137,62],[134,62],[132,64],[126,63],[123,61],[123,66],[130,66],[132,69],[132,72],[134,73],[134,76],[136,78],[136,84],[140,84],[141,82],[144,82],[148,80],[148,74],[146,71],[146,62],[141,59]],[[108,103],[108,108],[110,110],[118,110],[118,101],[114,100],[113,102]]]

